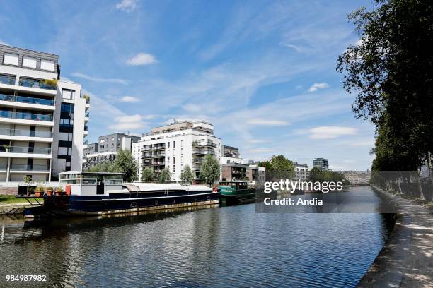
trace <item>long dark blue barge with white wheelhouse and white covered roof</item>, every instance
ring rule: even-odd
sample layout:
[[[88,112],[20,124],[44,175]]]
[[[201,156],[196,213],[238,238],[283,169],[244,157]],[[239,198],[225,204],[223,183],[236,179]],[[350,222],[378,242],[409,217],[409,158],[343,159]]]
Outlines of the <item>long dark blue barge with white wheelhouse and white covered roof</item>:
[[[108,215],[219,203],[219,192],[207,186],[124,184],[122,178],[120,173],[62,172],[60,186],[67,195],[44,196],[43,205],[25,209],[24,216]]]

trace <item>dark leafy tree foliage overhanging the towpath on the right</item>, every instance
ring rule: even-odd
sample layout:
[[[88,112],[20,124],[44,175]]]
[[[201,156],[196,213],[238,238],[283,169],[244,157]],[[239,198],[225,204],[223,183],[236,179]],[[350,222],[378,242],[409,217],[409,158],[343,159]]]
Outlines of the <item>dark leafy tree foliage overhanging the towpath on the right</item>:
[[[351,13],[361,41],[338,58],[352,109],[376,125],[376,169],[417,169],[433,150],[433,2],[376,0]],[[414,160],[410,160],[412,155]]]

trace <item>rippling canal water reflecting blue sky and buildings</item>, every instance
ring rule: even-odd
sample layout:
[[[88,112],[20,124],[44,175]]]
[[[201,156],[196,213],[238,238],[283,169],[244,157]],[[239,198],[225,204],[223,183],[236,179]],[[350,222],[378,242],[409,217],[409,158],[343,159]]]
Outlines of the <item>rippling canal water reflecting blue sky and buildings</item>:
[[[369,187],[346,193],[369,198]],[[5,275],[50,287],[355,287],[388,236],[379,214],[260,214],[255,205],[24,224],[0,218]],[[34,284],[33,284],[34,285]]]

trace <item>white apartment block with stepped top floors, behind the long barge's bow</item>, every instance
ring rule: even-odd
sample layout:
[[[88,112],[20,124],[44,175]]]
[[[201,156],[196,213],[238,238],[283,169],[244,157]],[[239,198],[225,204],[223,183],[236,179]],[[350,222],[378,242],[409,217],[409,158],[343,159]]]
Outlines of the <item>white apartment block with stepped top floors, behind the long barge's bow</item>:
[[[214,136],[214,126],[204,121],[174,121],[152,128],[150,135],[132,144],[132,155],[139,163],[139,177],[145,168],[153,169],[156,175],[168,168],[172,181],[180,181],[180,173],[188,164],[199,180],[201,164],[208,154],[221,162],[221,139]]]

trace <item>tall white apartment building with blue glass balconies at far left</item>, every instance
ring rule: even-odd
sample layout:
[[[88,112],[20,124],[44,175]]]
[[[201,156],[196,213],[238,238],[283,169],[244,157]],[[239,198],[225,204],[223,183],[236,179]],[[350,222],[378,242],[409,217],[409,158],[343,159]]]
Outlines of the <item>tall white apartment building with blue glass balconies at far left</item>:
[[[0,44],[0,182],[81,170],[88,99],[54,54]]]

